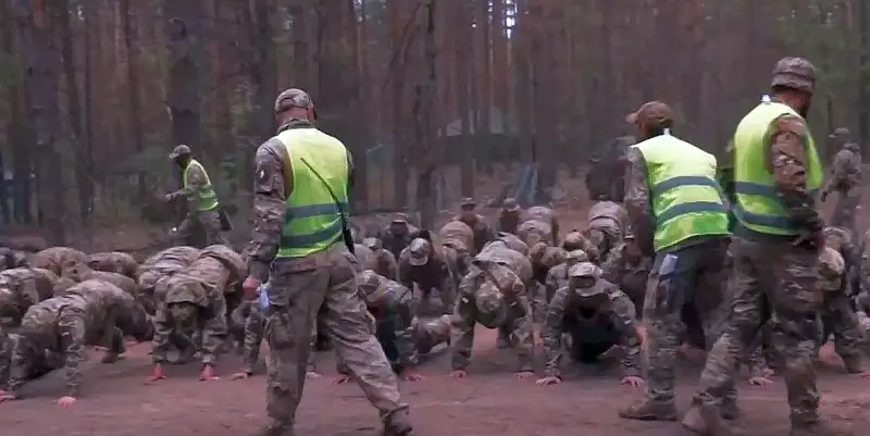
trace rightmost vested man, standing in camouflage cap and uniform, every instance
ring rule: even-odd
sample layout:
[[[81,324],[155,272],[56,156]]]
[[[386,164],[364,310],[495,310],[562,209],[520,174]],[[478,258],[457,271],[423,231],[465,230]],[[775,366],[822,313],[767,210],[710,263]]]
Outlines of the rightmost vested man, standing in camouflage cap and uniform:
[[[772,98],[765,96],[734,134],[737,224],[731,292],[736,300],[682,422],[688,431],[726,431],[714,413],[720,393],[733,383],[737,358],[769,322],[771,346],[785,363],[791,435],[838,433],[819,416],[812,362],[821,331],[819,253],[824,248],[823,221],[812,198],[823,169],[806,122],[815,82],[816,68],[806,59],[780,60]]]

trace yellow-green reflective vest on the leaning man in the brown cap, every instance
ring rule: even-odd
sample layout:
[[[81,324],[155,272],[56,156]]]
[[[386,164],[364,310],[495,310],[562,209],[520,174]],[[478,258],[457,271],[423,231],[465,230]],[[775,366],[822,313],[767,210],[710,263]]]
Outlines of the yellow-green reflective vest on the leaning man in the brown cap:
[[[670,135],[633,147],[646,161],[656,251],[694,236],[729,234],[716,157]]]

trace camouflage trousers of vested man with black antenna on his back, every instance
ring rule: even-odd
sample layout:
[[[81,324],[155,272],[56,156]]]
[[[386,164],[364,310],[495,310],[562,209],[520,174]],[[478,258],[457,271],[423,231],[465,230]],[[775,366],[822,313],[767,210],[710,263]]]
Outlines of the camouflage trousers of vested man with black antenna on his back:
[[[407,413],[399,401],[396,374],[374,336],[371,315],[357,291],[351,258],[338,242],[306,258],[279,258],[269,272],[265,340],[266,413],[276,422],[293,424],[301,400],[311,354],[311,332],[318,310],[325,304],[323,323],[335,351],[365,397],[388,422]]]

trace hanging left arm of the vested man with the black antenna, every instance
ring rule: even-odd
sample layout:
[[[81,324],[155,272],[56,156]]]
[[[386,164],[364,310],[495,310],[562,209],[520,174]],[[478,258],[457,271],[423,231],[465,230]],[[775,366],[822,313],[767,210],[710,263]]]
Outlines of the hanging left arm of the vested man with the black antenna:
[[[285,173],[284,145],[276,138],[257,150],[253,180],[253,209],[256,212],[251,237],[249,275],[261,281],[269,275],[269,265],[281,246],[285,204],[293,186],[293,177]],[[290,169],[286,169],[291,171]]]

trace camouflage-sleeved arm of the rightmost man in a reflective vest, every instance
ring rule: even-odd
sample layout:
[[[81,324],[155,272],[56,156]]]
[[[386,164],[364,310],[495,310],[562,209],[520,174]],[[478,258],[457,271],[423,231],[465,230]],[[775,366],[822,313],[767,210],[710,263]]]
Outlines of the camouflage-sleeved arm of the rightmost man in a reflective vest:
[[[810,233],[821,232],[822,219],[807,189],[807,125],[797,116],[785,115],[773,122],[771,130],[769,164],[786,213],[797,226]]]

